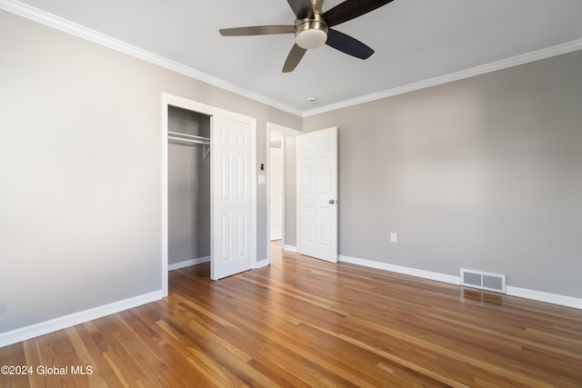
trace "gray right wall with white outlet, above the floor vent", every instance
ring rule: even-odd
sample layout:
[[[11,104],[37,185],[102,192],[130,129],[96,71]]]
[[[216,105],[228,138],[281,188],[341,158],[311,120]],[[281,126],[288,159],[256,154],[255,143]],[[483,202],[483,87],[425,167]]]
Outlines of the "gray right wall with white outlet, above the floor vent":
[[[582,51],[306,117],[339,127],[340,254],[582,297],[580,69]]]

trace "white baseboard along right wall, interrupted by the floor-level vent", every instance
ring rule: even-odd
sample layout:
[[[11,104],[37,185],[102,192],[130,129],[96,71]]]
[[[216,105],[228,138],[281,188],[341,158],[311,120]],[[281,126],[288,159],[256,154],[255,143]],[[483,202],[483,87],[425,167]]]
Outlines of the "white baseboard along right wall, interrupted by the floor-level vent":
[[[448,274],[438,274],[429,271],[417,270],[415,268],[403,267],[400,265],[379,263],[373,260],[358,259],[345,255],[339,255],[339,261],[342,263],[358,264],[379,270],[390,271],[396,274],[409,274],[423,279],[436,280],[437,282],[444,282],[448,284],[461,284],[460,276],[453,276]],[[527,288],[513,287],[507,285],[507,295],[517,296],[520,298],[531,299],[537,302],[552,303],[566,307],[573,307],[582,309],[582,299],[571,296],[559,295],[556,293],[544,293],[536,290],[528,290]]]

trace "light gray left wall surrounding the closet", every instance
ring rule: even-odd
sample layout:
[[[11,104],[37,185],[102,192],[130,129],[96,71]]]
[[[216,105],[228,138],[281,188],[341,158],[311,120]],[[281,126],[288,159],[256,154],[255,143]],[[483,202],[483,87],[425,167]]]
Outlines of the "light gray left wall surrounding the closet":
[[[162,288],[162,93],[302,118],[0,11],[0,333]],[[266,258],[266,185],[257,187]]]

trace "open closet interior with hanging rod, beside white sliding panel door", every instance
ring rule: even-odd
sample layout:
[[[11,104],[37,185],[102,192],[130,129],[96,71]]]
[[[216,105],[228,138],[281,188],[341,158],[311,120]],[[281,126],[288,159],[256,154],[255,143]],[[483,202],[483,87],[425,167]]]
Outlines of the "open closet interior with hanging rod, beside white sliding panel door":
[[[168,269],[210,260],[210,116],[169,105]]]

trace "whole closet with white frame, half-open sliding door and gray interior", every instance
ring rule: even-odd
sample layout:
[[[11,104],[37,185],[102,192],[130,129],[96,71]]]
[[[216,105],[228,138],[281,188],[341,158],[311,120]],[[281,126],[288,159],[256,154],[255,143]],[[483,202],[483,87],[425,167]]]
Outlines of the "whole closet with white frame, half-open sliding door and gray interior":
[[[163,293],[168,270],[257,268],[256,119],[163,93],[161,132]]]

